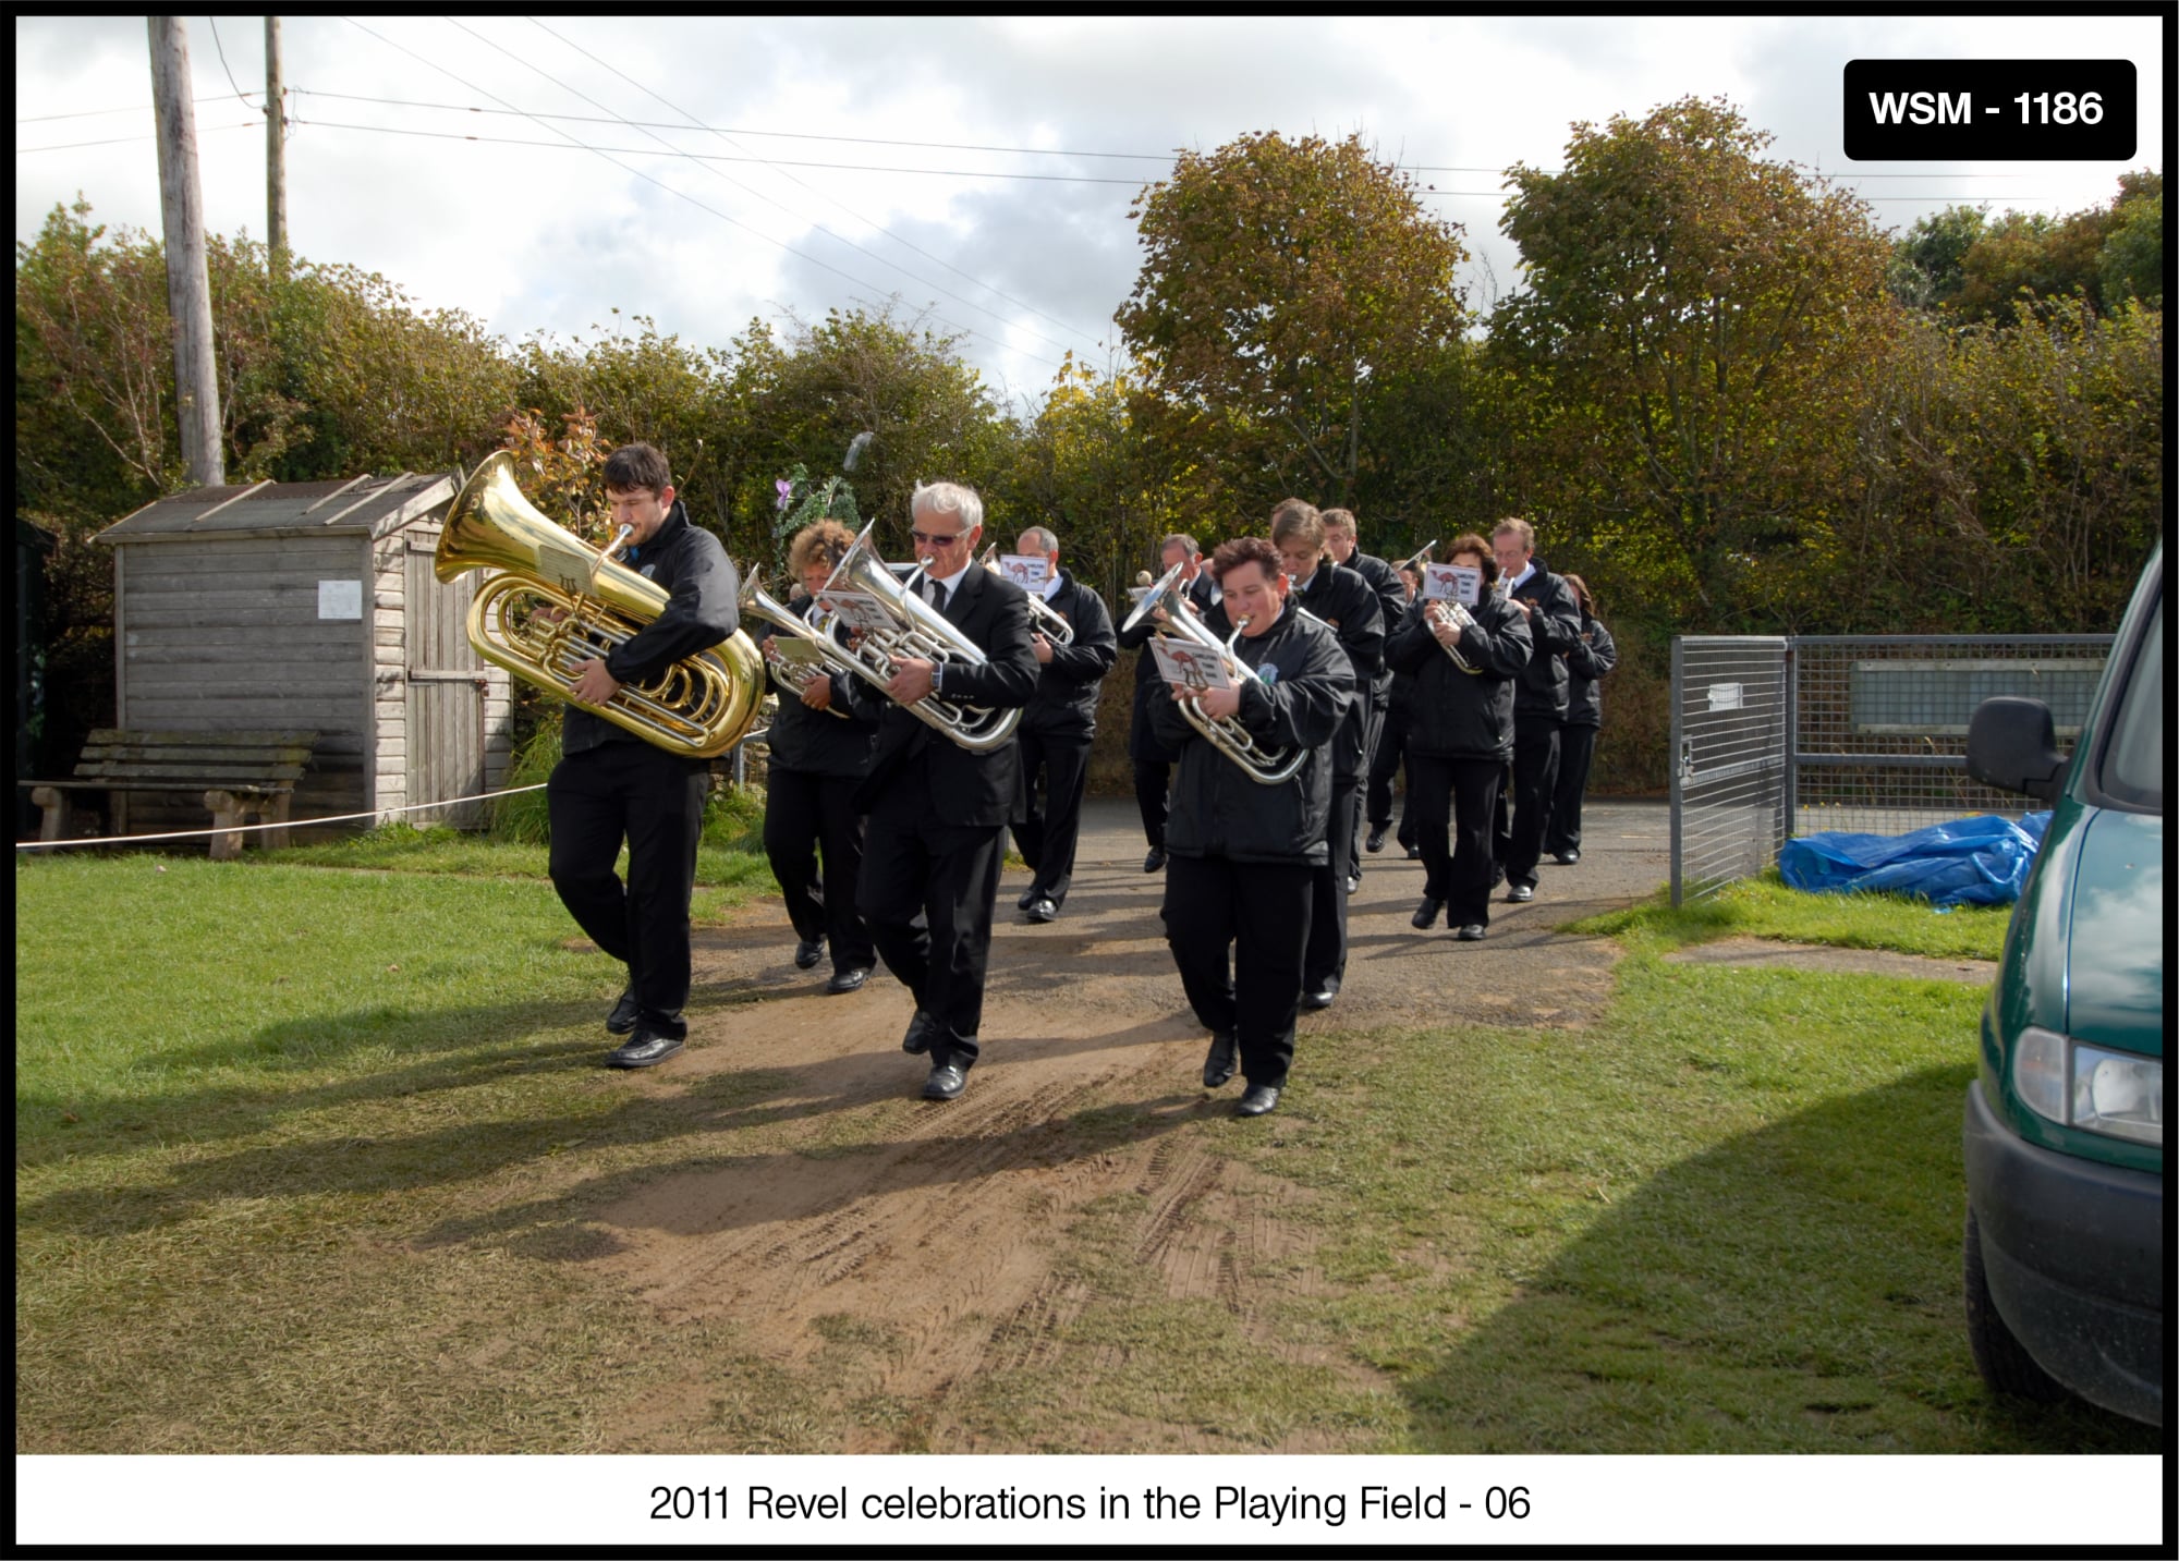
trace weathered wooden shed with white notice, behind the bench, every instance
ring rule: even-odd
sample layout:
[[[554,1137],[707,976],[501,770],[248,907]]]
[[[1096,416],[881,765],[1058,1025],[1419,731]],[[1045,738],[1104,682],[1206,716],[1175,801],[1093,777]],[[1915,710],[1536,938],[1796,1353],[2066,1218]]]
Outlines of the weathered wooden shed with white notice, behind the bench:
[[[113,724],[316,730],[299,820],[497,789],[512,685],[468,643],[475,573],[431,578],[455,488],[455,477],[407,471],[194,488],[102,530],[113,549]],[[155,796],[115,796],[113,807],[118,833],[203,824],[203,809]],[[475,804],[403,818],[484,822]]]

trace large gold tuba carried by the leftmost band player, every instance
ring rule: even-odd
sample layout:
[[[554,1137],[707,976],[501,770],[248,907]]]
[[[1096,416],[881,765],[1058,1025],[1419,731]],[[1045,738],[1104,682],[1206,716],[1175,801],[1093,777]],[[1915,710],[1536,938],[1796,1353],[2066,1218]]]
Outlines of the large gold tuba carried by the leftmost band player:
[[[468,604],[468,643],[495,667],[621,730],[686,759],[713,759],[756,722],[763,665],[734,630],[721,645],[682,656],[649,682],[623,682],[606,704],[575,700],[582,663],[608,656],[665,613],[671,600],[612,560],[628,528],[591,547],[553,525],[514,484],[514,458],[492,453],[453,495],[431,573],[440,584],[495,569]]]

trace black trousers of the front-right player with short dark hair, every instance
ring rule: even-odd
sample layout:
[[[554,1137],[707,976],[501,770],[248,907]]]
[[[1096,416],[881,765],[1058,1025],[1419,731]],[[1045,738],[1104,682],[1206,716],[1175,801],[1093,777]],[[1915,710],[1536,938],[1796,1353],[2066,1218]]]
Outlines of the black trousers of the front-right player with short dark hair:
[[[1294,1064],[1310,876],[1303,861],[1174,857],[1166,863],[1166,944],[1181,990],[1205,1029],[1240,1040],[1249,1084],[1283,1088]]]

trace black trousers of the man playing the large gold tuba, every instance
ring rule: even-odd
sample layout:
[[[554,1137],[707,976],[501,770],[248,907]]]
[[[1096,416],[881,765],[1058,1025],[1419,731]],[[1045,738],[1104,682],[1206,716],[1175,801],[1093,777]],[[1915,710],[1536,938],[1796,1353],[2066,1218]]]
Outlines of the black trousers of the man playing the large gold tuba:
[[[599,743],[553,765],[551,887],[593,944],[628,966],[638,1025],[689,1033],[689,896],[710,765],[649,743]],[[612,870],[628,842],[628,883]]]

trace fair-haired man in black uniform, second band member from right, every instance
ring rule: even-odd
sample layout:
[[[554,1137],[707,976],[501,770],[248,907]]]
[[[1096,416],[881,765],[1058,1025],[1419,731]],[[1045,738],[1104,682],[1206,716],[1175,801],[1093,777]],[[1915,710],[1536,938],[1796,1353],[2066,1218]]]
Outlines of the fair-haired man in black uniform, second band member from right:
[[[1514,608],[1527,617],[1534,654],[1512,700],[1512,820],[1506,798],[1497,804],[1497,863],[1506,870],[1506,900],[1536,898],[1536,861],[1551,820],[1558,785],[1558,724],[1567,719],[1567,652],[1582,641],[1582,610],[1573,589],[1536,558],[1536,528],[1499,521],[1490,552]]]

